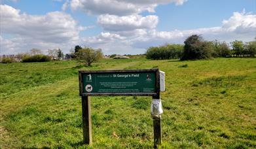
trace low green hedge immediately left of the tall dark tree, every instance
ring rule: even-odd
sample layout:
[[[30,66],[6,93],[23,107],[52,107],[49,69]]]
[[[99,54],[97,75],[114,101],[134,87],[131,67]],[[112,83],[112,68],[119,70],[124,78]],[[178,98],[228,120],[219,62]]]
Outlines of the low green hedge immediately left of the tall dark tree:
[[[152,46],[147,49],[147,59],[177,59],[183,50],[181,44],[167,44],[165,46]]]

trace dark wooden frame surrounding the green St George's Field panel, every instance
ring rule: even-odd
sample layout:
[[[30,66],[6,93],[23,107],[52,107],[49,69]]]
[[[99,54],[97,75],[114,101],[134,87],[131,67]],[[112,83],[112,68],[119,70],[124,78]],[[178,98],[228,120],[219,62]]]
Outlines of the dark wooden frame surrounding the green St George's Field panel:
[[[84,93],[84,84],[83,84],[83,74],[94,73],[94,74],[103,74],[103,73],[155,73],[155,92],[153,93],[141,93],[141,92],[120,92],[120,93]],[[155,96],[160,93],[160,72],[158,69],[133,69],[133,70],[107,70],[107,71],[79,71],[79,94],[81,96]]]

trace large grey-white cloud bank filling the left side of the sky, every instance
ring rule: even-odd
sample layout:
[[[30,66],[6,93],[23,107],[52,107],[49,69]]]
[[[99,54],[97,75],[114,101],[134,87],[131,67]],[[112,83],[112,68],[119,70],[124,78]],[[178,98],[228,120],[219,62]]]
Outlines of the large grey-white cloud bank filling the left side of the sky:
[[[48,12],[41,16],[29,15],[9,5],[0,5],[0,10],[3,41],[1,51],[5,53],[10,53],[9,50],[14,48],[8,48],[4,44],[14,45],[14,41],[20,43],[20,52],[31,48],[47,50],[54,46],[67,49],[79,42],[80,31],[91,28],[77,25],[77,22],[64,12]],[[4,39],[5,35],[11,35],[13,38]]]

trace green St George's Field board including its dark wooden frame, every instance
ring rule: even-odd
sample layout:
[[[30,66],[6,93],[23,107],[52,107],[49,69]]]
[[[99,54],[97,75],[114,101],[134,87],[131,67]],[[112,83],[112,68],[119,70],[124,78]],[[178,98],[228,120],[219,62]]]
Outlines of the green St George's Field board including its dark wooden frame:
[[[156,95],[158,69],[79,71],[80,95]]]

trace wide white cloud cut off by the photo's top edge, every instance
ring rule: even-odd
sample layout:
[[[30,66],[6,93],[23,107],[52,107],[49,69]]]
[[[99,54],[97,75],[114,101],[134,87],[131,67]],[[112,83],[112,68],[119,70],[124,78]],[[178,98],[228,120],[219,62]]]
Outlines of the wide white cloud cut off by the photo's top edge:
[[[71,0],[72,10],[83,10],[87,14],[113,14],[127,16],[139,12],[154,12],[155,7],[168,3],[183,5],[187,0]]]

